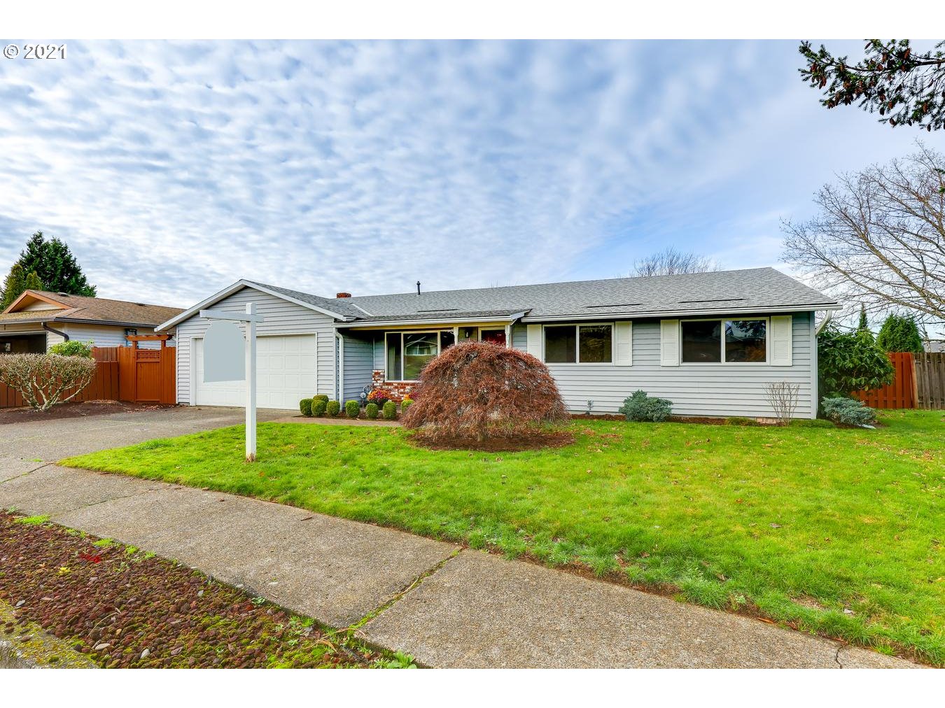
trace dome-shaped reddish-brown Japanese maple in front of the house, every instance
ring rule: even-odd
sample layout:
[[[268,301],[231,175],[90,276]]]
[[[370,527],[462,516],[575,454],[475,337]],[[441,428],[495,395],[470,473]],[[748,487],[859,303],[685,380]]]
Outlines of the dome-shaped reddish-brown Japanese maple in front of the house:
[[[569,420],[543,363],[488,342],[445,349],[423,368],[412,397],[404,426],[433,442],[541,439],[547,424]]]

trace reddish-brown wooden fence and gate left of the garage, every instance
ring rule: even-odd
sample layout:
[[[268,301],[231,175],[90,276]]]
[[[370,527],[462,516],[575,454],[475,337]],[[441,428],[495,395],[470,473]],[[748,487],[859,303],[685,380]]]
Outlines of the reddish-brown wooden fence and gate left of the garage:
[[[135,343],[137,344],[137,343]],[[177,349],[139,349],[137,346],[96,346],[92,350],[95,376],[74,401],[124,400],[138,403],[177,403]],[[68,394],[72,391],[68,391]],[[0,408],[27,403],[19,392],[0,383]]]

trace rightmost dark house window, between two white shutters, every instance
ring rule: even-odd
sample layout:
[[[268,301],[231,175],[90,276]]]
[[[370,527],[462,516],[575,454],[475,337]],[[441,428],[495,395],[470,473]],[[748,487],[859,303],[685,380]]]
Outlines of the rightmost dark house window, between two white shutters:
[[[683,363],[764,363],[767,320],[690,320],[681,323]],[[724,334],[723,334],[724,333]]]

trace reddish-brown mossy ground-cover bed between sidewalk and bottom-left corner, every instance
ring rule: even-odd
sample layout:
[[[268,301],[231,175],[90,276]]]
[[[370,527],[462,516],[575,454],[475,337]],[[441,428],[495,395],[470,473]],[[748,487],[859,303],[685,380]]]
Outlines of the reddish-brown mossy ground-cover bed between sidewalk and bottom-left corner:
[[[8,633],[34,622],[110,668],[391,664],[348,632],[43,516],[0,513],[0,600]]]

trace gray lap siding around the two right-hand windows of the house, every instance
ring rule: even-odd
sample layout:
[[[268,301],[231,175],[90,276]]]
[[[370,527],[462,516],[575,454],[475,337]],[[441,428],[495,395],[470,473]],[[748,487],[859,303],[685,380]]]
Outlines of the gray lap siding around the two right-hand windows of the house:
[[[679,364],[660,365],[660,320],[633,321],[633,365],[548,364],[569,410],[616,413],[637,389],[673,401],[678,415],[767,417],[771,407],[765,383],[787,380],[800,385],[796,415],[816,416],[816,348],[812,346],[813,312],[793,313],[793,365]],[[524,325],[516,325],[512,344],[525,348]]]

